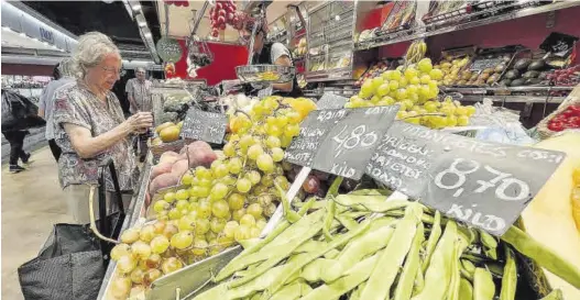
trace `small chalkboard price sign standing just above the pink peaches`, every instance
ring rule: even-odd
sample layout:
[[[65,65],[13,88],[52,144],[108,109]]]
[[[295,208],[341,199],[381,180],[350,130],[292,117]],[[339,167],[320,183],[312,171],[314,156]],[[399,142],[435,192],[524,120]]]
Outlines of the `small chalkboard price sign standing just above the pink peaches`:
[[[179,135],[185,138],[221,144],[226,134],[227,123],[228,118],[226,114],[190,108],[187,111]]]

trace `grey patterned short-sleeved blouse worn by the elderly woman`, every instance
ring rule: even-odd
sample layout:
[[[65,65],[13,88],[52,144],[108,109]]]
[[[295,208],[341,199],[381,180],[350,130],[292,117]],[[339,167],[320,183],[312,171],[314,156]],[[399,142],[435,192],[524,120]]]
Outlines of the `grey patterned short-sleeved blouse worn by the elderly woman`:
[[[64,123],[72,123],[90,130],[92,136],[103,134],[124,121],[119,100],[112,92],[107,93],[107,104],[95,96],[83,82],[77,81],[55,93],[54,127],[55,142],[63,154],[58,159],[61,186],[96,184],[98,166],[107,157],[112,157],[121,190],[138,187],[139,169],[129,137],[123,138],[94,158],[84,159],[73,148]],[[107,190],[113,191],[111,175],[106,173]]]

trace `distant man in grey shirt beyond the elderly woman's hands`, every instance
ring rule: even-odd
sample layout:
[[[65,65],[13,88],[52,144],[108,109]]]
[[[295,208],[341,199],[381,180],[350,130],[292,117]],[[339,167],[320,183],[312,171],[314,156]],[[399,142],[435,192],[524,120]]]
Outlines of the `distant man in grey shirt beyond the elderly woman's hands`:
[[[129,79],[125,86],[127,99],[129,99],[131,113],[139,111],[151,112],[153,110],[151,102],[151,87],[152,82],[145,78],[145,69],[136,68],[135,78]],[[139,144],[139,156],[140,160],[145,160],[147,153],[147,136],[145,134],[139,135],[133,143],[133,147],[136,148]]]

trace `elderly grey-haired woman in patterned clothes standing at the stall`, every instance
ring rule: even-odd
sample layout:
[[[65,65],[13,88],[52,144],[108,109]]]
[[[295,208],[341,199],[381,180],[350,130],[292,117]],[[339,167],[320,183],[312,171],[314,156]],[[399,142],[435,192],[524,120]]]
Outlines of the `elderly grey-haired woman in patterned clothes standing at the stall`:
[[[88,223],[86,184],[97,181],[98,167],[109,157],[117,169],[124,205],[129,204],[139,177],[130,135],[153,126],[153,115],[139,112],[124,119],[119,100],[111,92],[119,79],[121,56],[106,35],[90,32],[80,36],[73,54],[73,68],[76,85],[55,95],[55,140],[63,152],[58,175],[69,213],[78,223]],[[108,171],[106,188],[110,212],[117,208],[110,202],[114,186]]]

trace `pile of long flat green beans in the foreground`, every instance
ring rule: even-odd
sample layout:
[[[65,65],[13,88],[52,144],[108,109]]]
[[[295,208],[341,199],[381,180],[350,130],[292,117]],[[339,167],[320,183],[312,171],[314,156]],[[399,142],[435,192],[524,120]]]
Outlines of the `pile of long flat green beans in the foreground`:
[[[516,254],[580,288],[579,269],[517,227],[497,238],[417,202],[384,199],[354,192],[299,205],[194,299],[514,300]]]

